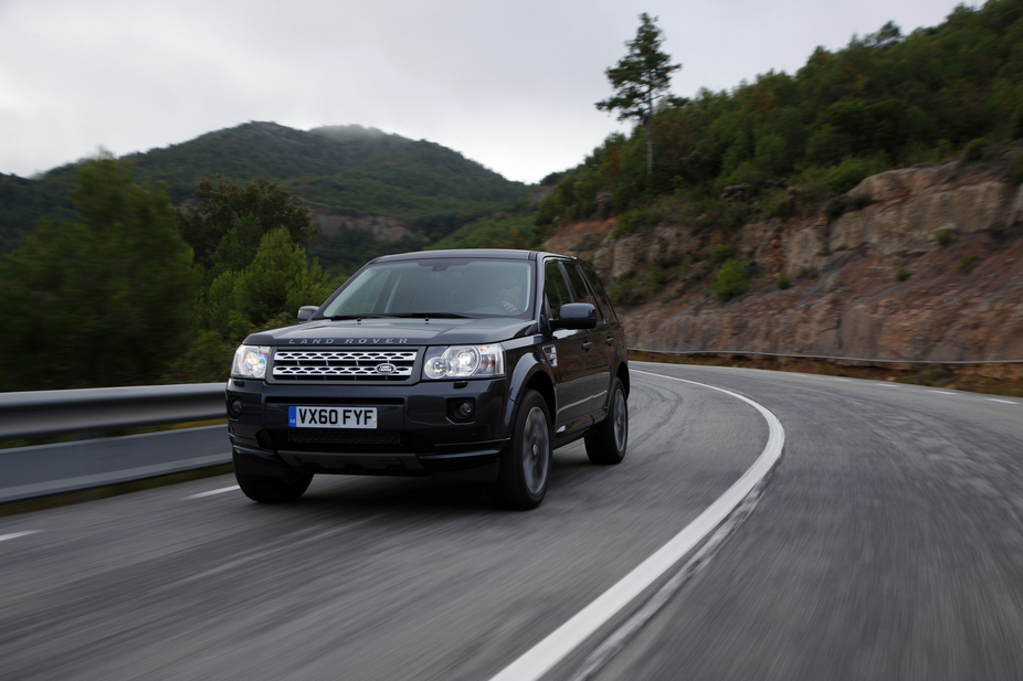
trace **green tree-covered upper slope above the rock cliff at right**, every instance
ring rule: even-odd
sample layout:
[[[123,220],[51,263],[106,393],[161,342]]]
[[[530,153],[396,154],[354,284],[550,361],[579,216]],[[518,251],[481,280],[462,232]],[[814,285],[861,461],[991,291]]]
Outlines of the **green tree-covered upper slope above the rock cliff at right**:
[[[813,210],[868,174],[1023,138],[1023,0],[960,4],[908,35],[888,22],[819,47],[794,75],[667,99],[651,129],[651,172],[647,127],[613,135],[565,173],[538,222],[620,216],[627,232],[683,211],[737,228]]]

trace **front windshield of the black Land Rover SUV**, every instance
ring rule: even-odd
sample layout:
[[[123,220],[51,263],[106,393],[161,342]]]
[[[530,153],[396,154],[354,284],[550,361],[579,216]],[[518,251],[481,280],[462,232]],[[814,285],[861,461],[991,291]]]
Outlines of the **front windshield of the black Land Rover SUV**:
[[[433,258],[370,265],[324,306],[324,317],[532,316],[534,263]]]

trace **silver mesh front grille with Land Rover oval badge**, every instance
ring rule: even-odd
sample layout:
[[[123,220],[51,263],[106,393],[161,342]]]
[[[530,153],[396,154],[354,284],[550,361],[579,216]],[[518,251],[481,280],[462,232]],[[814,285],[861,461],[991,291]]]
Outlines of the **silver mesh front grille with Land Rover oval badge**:
[[[415,350],[291,350],[274,352],[274,381],[408,383]]]

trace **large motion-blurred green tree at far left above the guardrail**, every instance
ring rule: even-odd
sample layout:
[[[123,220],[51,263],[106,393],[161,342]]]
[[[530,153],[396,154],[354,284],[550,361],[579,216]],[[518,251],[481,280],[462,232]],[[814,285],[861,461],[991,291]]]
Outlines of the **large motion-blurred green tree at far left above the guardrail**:
[[[192,328],[192,253],[164,188],[103,156],[72,199],[74,221],[41,224],[0,263],[0,390],[158,383]]]

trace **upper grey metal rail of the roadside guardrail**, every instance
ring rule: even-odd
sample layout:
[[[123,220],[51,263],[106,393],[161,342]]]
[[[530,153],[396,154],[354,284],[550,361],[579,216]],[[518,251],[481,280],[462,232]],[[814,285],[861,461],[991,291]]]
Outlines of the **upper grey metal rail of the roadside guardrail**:
[[[0,440],[225,418],[224,383],[0,393]]]

